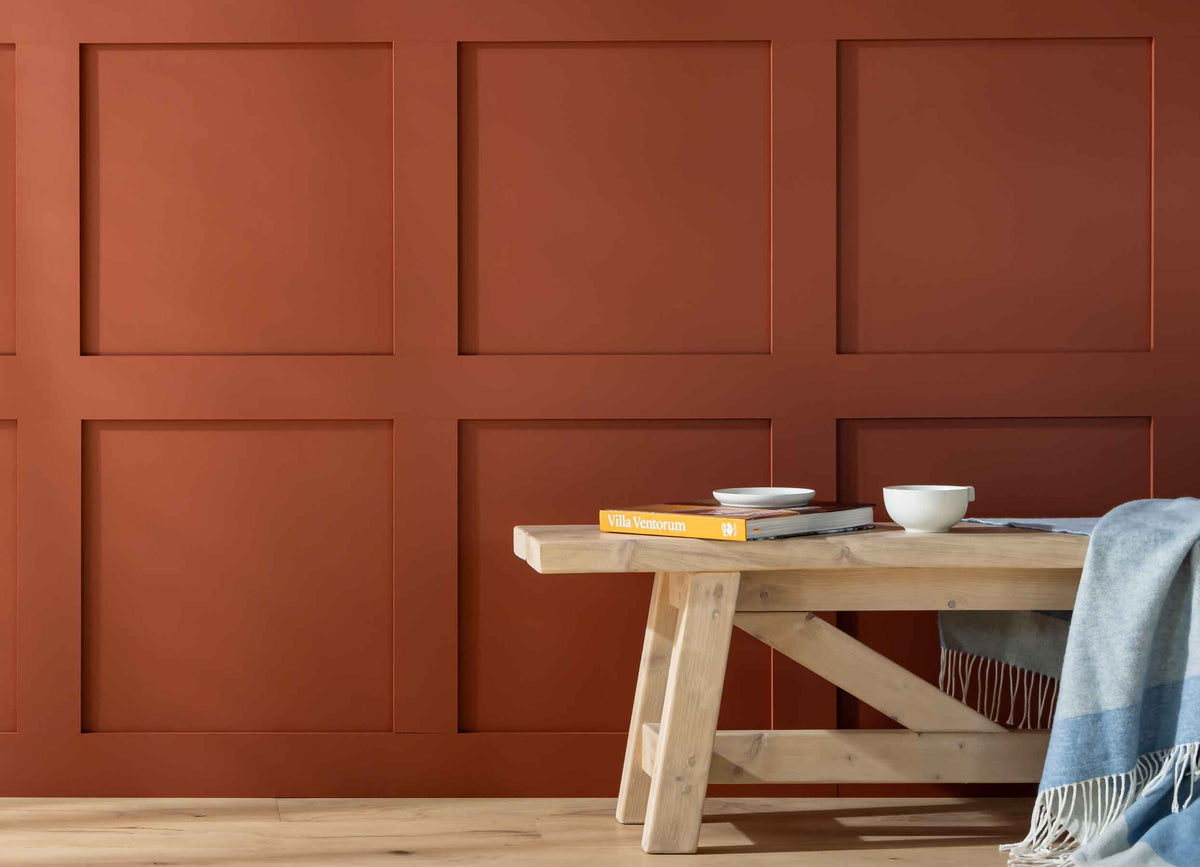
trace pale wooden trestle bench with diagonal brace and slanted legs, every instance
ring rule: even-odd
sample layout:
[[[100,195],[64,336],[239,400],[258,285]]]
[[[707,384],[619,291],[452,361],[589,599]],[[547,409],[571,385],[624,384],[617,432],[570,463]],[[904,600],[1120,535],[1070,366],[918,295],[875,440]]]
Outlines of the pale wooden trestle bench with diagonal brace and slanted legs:
[[[691,853],[708,783],[1037,781],[1045,731],[1012,731],[814,611],[1069,610],[1087,538],[961,524],[749,543],[516,527],[541,573],[653,572],[617,820]],[[733,627],[907,730],[718,731]]]

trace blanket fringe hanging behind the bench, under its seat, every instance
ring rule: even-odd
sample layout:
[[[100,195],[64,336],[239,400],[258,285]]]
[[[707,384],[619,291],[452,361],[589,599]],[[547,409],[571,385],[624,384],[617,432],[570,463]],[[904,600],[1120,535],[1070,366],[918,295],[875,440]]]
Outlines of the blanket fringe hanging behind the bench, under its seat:
[[[946,647],[942,648],[937,686],[994,723],[1018,729],[1049,729],[1058,699],[1056,677]],[[1007,702],[1003,701],[1006,695]],[[1007,717],[1002,713],[1006,704]]]

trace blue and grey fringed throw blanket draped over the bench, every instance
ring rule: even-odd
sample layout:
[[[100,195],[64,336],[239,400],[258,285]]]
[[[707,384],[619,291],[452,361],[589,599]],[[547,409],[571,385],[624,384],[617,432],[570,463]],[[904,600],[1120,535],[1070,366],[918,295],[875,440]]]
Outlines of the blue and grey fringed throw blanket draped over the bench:
[[[1092,531],[1061,665],[1046,662],[1061,615],[943,618],[947,692],[967,698],[974,671],[976,705],[994,718],[1004,705],[1002,722],[1054,717],[1030,833],[1004,847],[1010,865],[1200,867],[1198,584],[1200,500],[1141,500]]]

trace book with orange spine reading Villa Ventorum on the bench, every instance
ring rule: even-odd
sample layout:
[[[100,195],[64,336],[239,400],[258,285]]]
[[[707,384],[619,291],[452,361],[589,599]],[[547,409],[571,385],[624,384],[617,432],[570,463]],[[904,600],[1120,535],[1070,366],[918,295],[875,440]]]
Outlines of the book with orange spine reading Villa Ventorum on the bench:
[[[746,509],[700,500],[691,503],[655,503],[600,510],[600,530],[606,533],[726,542],[840,533],[868,530],[874,525],[875,508],[865,503],[809,503],[788,509]]]

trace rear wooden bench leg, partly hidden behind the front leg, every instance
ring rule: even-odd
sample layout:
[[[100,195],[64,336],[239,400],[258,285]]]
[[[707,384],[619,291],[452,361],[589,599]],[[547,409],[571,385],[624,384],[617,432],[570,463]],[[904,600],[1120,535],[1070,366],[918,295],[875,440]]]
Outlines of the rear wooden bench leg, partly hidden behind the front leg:
[[[676,610],[671,606],[670,575],[654,576],[650,591],[650,614],[646,620],[642,641],[642,664],[637,670],[637,690],[634,693],[634,714],[629,720],[625,741],[625,769],[620,772],[620,793],[617,795],[617,821],[641,825],[646,821],[646,801],[650,796],[650,778],[642,770],[642,724],[662,719],[662,696],[667,690],[667,669],[671,666],[671,646],[674,644]]]

